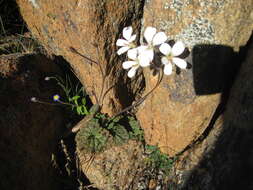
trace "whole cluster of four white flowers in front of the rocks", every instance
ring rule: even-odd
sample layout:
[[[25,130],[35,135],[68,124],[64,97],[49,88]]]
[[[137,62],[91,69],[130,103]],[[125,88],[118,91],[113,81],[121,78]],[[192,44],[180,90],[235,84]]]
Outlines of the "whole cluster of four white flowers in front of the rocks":
[[[164,32],[157,32],[154,27],[147,27],[144,31],[145,44],[137,46],[134,41],[136,35],[133,34],[131,26],[123,29],[123,39],[118,39],[116,45],[120,47],[118,55],[127,53],[128,61],[123,62],[123,69],[128,70],[128,77],[135,76],[140,67],[148,67],[152,64],[156,53],[161,53],[161,63],[164,65],[164,74],[172,73],[173,64],[181,69],[186,69],[187,63],[184,59],[179,58],[185,46],[183,42],[178,41],[172,47],[166,43],[168,37]]]

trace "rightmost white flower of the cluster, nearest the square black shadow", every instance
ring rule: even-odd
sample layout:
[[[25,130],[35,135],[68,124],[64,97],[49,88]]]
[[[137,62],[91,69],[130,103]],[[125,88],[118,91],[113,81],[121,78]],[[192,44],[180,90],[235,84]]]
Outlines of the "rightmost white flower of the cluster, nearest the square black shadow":
[[[159,50],[165,56],[162,57],[161,61],[164,64],[164,74],[170,75],[172,73],[172,63],[177,65],[180,69],[186,69],[187,63],[185,60],[177,57],[182,54],[185,50],[183,42],[176,42],[173,47],[167,43],[163,43]]]

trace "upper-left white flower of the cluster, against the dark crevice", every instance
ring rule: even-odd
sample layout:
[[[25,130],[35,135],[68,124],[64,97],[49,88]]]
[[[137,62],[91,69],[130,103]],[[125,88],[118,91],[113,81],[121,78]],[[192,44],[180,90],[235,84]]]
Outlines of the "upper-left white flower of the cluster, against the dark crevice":
[[[125,27],[123,29],[123,37],[124,39],[118,39],[116,42],[117,46],[121,48],[117,51],[118,55],[121,55],[127,52],[131,48],[135,48],[135,44],[133,41],[136,39],[136,35],[132,35],[133,28],[131,26]]]

